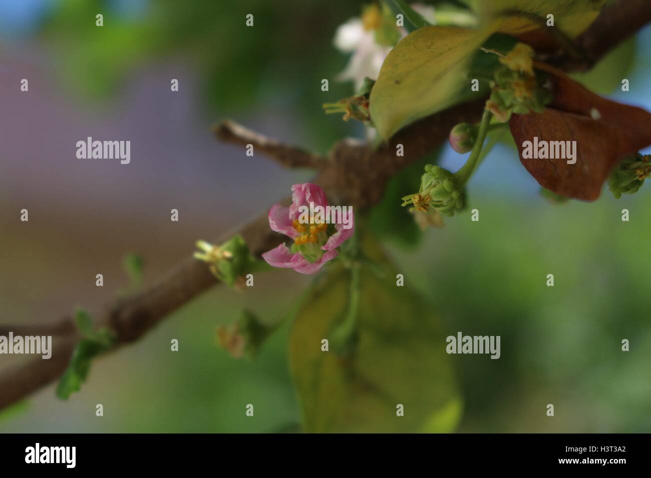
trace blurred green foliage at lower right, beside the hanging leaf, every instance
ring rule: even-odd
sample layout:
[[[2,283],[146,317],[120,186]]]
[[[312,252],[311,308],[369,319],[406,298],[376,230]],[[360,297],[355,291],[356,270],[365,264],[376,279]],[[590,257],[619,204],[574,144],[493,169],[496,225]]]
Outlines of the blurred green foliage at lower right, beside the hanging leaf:
[[[400,252],[409,282],[437,304],[446,335],[501,335],[499,360],[455,356],[460,431],[651,429],[643,371],[651,360],[651,259],[638,254],[651,213],[641,207],[649,193],[639,194],[551,206],[476,193],[478,222],[448,221],[419,252]],[[630,222],[621,220],[625,207],[635,211]],[[624,338],[636,344],[630,352],[621,350]]]

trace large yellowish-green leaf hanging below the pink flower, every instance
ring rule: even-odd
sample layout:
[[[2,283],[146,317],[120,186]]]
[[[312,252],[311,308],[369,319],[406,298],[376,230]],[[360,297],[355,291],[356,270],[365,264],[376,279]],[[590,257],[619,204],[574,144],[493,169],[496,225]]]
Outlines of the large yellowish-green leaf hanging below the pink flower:
[[[290,369],[307,432],[451,432],[462,413],[445,337],[428,304],[372,240],[363,253],[383,278],[361,271],[357,345],[350,356],[321,351],[346,316],[350,271],[333,263],[308,291],[290,336]],[[404,416],[396,416],[396,406]]]

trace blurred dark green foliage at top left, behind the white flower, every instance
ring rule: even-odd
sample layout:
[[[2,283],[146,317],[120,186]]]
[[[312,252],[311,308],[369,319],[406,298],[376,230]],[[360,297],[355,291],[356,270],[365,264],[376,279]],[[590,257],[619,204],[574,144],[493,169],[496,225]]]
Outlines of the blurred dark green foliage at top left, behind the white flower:
[[[102,98],[146,62],[176,58],[178,68],[187,63],[199,73],[197,101],[206,114],[247,116],[255,107],[294,115],[297,135],[325,151],[349,127],[322,114],[321,104],[353,92],[352,83],[335,81],[348,59],[333,36],[364,3],[158,0],[146,2],[140,15],[126,15],[107,1],[62,0],[44,34],[64,60],[64,81],[81,92]],[[245,25],[247,14],[253,27]],[[321,91],[324,78],[328,92]]]

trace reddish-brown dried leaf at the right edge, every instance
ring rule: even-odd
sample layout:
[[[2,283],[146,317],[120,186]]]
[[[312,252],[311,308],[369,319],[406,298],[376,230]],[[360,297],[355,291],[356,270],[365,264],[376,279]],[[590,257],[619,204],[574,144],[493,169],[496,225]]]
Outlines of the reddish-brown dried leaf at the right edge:
[[[570,198],[595,200],[618,160],[651,144],[651,114],[601,98],[550,66],[536,62],[536,68],[550,74],[554,101],[542,114],[512,116],[520,161],[542,187]],[[523,143],[534,137],[539,142],[576,141],[576,163],[523,159]]]

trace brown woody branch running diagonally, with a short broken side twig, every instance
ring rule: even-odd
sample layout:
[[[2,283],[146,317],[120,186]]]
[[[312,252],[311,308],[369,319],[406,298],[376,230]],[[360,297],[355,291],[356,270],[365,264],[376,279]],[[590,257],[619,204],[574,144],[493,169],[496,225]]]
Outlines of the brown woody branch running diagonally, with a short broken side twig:
[[[627,38],[651,20],[651,5],[645,0],[620,0],[602,12],[595,23],[579,38],[587,51],[585,65],[592,65],[609,49]],[[565,62],[555,64],[565,70],[576,70],[577,65]],[[585,65],[579,65],[584,68]],[[443,143],[452,126],[459,122],[473,122],[480,117],[483,100],[452,107],[441,113],[411,124],[399,131],[388,144],[370,150],[350,141],[335,145],[329,161],[299,148],[286,146],[253,133],[233,122],[214,128],[217,137],[236,144],[253,144],[286,167],[308,167],[318,170],[314,182],[321,185],[333,204],[346,204],[365,209],[382,197],[389,178],[399,170],[417,161]],[[404,156],[396,156],[396,145],[404,145]],[[240,230],[255,256],[283,242],[280,234],[269,228],[267,213],[252,220]],[[221,241],[219,241],[221,242]],[[144,336],[169,313],[217,284],[206,264],[192,258],[178,265],[167,276],[145,291],[119,300],[102,314],[98,326],[107,326],[115,332],[118,347]],[[57,335],[49,360],[38,357],[0,373],[0,408],[11,405],[56,380],[66,369],[78,339],[72,316],[44,328],[16,326],[29,335]],[[1,330],[13,330],[4,326]],[[51,333],[44,333],[44,332]],[[25,334],[28,335],[28,334]]]

